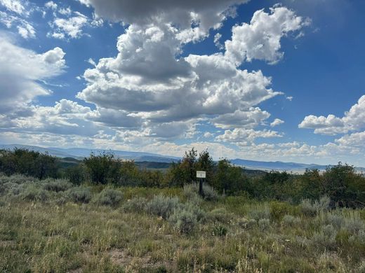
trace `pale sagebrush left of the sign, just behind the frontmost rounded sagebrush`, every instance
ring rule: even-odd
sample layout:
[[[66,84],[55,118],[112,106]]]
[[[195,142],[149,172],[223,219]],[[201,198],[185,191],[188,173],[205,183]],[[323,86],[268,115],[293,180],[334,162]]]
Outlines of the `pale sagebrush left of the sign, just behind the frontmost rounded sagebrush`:
[[[178,197],[164,197],[163,195],[156,195],[150,202],[147,203],[146,211],[149,214],[161,216],[167,219],[175,209],[180,207]]]

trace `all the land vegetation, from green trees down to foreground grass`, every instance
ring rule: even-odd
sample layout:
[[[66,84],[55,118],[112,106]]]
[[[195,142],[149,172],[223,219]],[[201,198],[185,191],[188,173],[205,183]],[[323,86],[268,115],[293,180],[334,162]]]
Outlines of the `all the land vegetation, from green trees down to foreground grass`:
[[[207,151],[165,173],[48,157],[0,153],[1,272],[364,272],[365,179],[351,166],[248,177]]]

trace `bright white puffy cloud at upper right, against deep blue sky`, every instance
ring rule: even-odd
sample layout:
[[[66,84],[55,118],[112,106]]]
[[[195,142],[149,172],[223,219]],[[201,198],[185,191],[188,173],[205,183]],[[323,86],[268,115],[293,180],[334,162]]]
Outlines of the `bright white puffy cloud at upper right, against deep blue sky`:
[[[279,51],[281,38],[308,24],[308,20],[285,7],[274,6],[270,8],[270,14],[258,10],[250,24],[244,23],[232,28],[232,40],[225,42],[225,55],[236,64],[251,62],[253,59],[275,64],[284,55],[284,52]]]

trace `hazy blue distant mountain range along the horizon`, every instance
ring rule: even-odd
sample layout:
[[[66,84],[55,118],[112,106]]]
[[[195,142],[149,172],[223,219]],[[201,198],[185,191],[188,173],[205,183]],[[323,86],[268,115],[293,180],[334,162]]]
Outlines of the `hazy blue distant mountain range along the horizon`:
[[[88,148],[42,148],[38,146],[27,146],[20,144],[0,144],[0,149],[10,149],[13,150],[17,148],[27,148],[32,151],[39,151],[41,153],[49,153],[50,155],[56,156],[58,158],[75,158],[77,160],[82,160],[87,158],[91,153],[103,153],[111,152],[114,153],[118,158],[123,158],[126,160],[134,160],[135,162],[178,162],[181,158],[159,155],[157,153],[142,153],[142,152],[129,152],[129,151],[118,151],[118,150],[100,150],[100,149],[88,149]],[[245,167],[246,169],[258,169],[258,170],[277,170],[277,171],[287,171],[287,172],[303,172],[305,169],[319,169],[325,170],[328,165],[317,165],[317,164],[304,164],[296,162],[265,162],[265,161],[255,161],[255,160],[243,160],[234,159],[230,160],[234,165]],[[331,166],[329,166],[331,167]],[[356,167],[358,172],[365,172],[365,168]]]

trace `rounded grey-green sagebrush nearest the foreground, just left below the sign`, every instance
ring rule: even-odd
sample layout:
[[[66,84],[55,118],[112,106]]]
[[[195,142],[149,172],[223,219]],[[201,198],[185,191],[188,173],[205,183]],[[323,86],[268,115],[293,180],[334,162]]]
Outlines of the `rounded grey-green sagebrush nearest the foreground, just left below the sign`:
[[[172,223],[175,228],[184,234],[190,234],[195,225],[197,225],[197,215],[192,211],[186,209],[176,209],[173,214],[168,218],[168,221]]]

